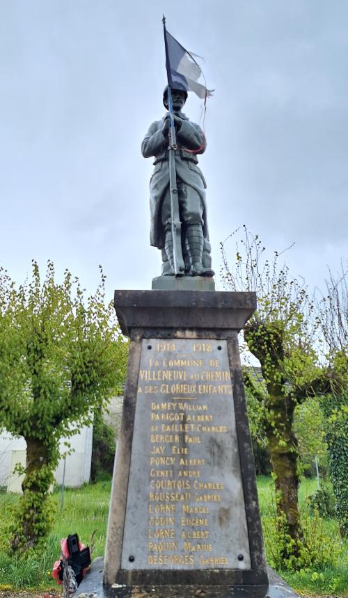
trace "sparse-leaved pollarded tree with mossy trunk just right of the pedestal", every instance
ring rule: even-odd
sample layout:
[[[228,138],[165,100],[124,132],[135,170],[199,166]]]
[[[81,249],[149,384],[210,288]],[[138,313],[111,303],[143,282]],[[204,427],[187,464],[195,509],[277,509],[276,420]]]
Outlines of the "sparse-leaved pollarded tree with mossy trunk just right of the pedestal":
[[[237,231],[234,233],[236,234]],[[317,362],[313,302],[306,286],[279,265],[279,254],[269,260],[258,236],[244,227],[236,242],[230,268],[226,245],[221,243],[222,276],[231,291],[255,291],[258,309],[244,328],[248,350],[258,359],[260,376],[244,370],[244,382],[260,405],[276,486],[280,549],[283,562],[296,562],[303,547],[298,506],[299,449],[294,434],[294,410],[306,399],[314,381],[322,378]]]

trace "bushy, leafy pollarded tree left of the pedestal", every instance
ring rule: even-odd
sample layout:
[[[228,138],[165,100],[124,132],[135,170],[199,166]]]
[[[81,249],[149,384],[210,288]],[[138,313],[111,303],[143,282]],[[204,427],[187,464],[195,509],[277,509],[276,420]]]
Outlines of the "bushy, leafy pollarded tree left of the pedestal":
[[[104,280],[101,270],[85,300],[68,270],[61,284],[54,280],[51,261],[42,283],[33,261],[31,280],[19,287],[0,269],[0,428],[26,440],[13,552],[38,547],[49,531],[59,440],[89,424],[93,409],[122,388],[127,342],[104,304]]]

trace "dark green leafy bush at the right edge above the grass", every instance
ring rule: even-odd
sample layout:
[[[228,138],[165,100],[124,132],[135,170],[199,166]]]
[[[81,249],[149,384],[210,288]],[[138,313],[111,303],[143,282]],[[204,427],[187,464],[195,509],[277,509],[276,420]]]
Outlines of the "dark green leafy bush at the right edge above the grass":
[[[346,363],[347,365],[347,363]],[[329,471],[342,536],[348,535],[348,394],[322,398],[329,447]]]

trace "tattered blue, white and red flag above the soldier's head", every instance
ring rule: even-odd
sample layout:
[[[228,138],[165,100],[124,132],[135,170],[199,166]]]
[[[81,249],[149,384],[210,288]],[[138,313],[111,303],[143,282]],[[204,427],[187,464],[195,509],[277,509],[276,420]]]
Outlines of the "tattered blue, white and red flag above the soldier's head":
[[[166,47],[166,70],[168,76],[168,85],[172,89],[182,89],[193,91],[202,99],[212,96],[214,90],[209,90],[198,79],[202,75],[200,65],[196,62],[192,54],[182,47],[182,45],[173,38],[173,35],[166,30],[164,24],[164,45]],[[199,58],[199,57],[198,57]]]

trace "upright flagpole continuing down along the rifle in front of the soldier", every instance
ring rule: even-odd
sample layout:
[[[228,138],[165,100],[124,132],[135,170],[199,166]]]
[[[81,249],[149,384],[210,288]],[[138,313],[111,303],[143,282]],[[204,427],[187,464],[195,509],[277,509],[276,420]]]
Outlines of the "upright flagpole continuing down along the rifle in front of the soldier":
[[[171,65],[168,56],[168,43],[166,36],[166,17],[163,15],[162,19],[164,31],[164,47],[166,49],[166,71],[168,80],[168,111],[169,111],[169,134],[168,134],[168,154],[169,154],[169,191],[171,195],[171,233],[173,239],[173,266],[175,276],[183,276],[185,273],[184,258],[182,256],[182,239],[181,239],[181,220],[179,213],[179,196],[177,193],[176,169],[175,169],[175,151],[177,149],[174,114],[173,114],[173,99],[172,99],[172,76]]]

